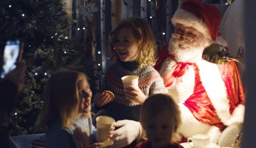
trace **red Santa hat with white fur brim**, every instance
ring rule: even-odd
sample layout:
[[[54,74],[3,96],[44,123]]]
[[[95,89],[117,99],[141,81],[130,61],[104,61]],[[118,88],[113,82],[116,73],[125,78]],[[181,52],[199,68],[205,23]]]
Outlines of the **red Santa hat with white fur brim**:
[[[226,41],[218,32],[220,22],[221,15],[218,8],[199,0],[186,0],[172,18],[174,26],[180,23],[187,27],[193,27],[202,32],[206,38],[211,38],[214,43],[226,46]]]

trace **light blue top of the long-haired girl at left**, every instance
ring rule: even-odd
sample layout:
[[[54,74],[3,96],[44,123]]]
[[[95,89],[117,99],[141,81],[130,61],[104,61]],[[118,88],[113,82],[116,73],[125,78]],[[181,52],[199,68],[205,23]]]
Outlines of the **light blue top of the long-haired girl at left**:
[[[94,142],[96,128],[92,125],[91,118],[79,117],[72,126],[61,129],[61,119],[57,117],[46,131],[47,148],[80,148]]]

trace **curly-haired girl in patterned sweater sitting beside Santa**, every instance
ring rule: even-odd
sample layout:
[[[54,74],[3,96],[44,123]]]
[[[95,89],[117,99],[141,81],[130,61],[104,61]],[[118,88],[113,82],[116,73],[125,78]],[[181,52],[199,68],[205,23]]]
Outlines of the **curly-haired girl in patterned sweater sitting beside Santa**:
[[[111,98],[107,93],[99,93],[94,104],[102,110],[96,116],[139,121],[140,107],[146,98],[167,93],[162,78],[152,67],[156,62],[155,50],[154,37],[146,20],[128,18],[118,24],[110,34],[110,59],[116,64],[107,69],[102,87],[114,93],[115,98],[109,102]],[[124,89],[121,78],[126,75],[138,76],[138,87]]]

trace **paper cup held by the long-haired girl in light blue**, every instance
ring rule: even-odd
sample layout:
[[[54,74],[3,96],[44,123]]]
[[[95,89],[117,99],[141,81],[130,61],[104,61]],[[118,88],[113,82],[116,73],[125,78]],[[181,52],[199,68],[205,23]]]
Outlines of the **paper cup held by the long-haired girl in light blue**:
[[[96,118],[96,139],[98,142],[109,140],[109,132],[113,127],[115,120],[109,116],[98,116]]]

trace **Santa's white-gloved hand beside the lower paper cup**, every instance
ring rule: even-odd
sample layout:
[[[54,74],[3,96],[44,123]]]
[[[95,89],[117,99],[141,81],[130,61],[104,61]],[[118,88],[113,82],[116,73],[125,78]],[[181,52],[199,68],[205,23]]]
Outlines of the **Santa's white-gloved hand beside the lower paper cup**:
[[[139,139],[142,134],[140,122],[134,120],[119,120],[114,123],[115,127],[120,127],[114,131],[113,140],[114,144],[111,148],[122,148],[129,145],[134,140]]]

